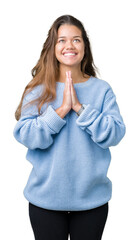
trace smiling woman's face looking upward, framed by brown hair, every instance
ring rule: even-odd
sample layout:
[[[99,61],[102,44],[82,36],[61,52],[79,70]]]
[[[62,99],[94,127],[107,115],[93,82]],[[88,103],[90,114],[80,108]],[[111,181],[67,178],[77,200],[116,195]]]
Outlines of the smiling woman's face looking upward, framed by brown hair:
[[[79,28],[68,24],[59,27],[55,55],[60,64],[67,66],[81,64],[84,57],[84,42]]]

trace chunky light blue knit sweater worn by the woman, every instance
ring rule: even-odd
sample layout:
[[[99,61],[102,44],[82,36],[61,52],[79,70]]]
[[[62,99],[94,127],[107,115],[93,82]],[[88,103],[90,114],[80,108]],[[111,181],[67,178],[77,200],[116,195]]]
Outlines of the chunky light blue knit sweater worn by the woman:
[[[24,196],[51,210],[96,208],[111,199],[109,147],[120,142],[126,127],[111,86],[93,76],[74,84],[79,102],[87,105],[81,115],[71,109],[62,119],[55,109],[63,102],[64,87],[56,83],[57,97],[42,106],[41,115],[35,104],[22,108],[14,127],[13,135],[28,148],[26,159],[32,164]],[[42,89],[41,84],[28,93],[22,106]]]

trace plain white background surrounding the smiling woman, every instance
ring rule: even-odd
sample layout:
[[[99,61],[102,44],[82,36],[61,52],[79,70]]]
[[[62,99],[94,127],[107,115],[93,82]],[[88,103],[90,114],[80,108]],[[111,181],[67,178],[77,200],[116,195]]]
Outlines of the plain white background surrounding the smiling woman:
[[[112,86],[126,135],[111,147],[113,183],[103,240],[139,239],[138,1],[3,1],[0,6],[1,168],[0,239],[33,240],[23,189],[31,171],[27,148],[13,137],[14,112],[53,21],[70,14],[83,22],[101,78]],[[137,218],[136,218],[137,217]],[[136,220],[137,219],[137,220]]]

